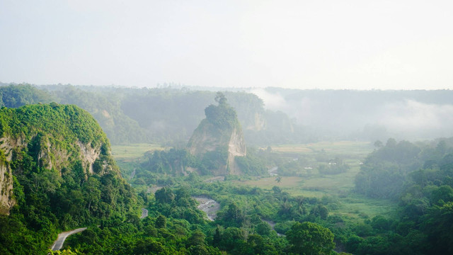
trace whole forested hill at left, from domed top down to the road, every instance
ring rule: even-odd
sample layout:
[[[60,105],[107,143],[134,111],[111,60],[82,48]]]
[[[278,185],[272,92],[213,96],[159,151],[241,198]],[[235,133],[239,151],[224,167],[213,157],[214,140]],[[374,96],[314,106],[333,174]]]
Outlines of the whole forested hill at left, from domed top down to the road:
[[[45,254],[62,229],[138,212],[105,133],[77,106],[1,108],[0,190],[0,254]]]

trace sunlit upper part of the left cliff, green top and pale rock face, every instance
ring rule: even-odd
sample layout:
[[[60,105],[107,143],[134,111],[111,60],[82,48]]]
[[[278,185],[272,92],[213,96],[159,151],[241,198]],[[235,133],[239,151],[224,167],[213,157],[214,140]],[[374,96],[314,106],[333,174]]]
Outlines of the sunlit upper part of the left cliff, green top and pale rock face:
[[[70,162],[80,161],[86,176],[95,171],[95,174],[104,174],[113,170],[110,164],[106,164],[110,157],[108,148],[108,140],[96,120],[76,106],[55,104],[2,108],[0,214],[8,214],[16,204],[13,175],[28,171],[14,169],[14,161],[29,157],[33,159],[33,166],[42,169],[40,171],[57,171],[60,176]]]

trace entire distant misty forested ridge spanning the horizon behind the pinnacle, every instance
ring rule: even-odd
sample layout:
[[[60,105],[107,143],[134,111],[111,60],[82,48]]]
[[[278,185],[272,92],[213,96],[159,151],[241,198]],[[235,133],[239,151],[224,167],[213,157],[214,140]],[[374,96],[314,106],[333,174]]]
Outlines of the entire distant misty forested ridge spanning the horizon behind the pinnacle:
[[[209,89],[0,84],[0,105],[75,104],[98,120],[113,144],[156,142],[182,148],[205,118],[205,106],[214,103],[216,92]],[[453,136],[452,90],[266,88],[223,93],[248,145]]]

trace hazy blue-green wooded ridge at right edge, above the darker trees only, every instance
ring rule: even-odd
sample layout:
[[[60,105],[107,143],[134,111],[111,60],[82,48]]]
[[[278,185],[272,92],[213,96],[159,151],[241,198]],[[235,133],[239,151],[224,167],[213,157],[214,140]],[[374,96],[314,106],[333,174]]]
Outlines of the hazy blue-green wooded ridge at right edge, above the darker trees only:
[[[408,141],[396,142],[391,138],[385,146],[379,141],[375,145],[379,149],[369,154],[355,178],[357,192],[370,197],[396,199],[401,196],[404,184],[411,180],[414,171],[419,169],[435,171],[452,167],[449,162],[453,153],[452,139],[439,140],[435,145],[426,145]],[[449,176],[447,172],[443,174]]]

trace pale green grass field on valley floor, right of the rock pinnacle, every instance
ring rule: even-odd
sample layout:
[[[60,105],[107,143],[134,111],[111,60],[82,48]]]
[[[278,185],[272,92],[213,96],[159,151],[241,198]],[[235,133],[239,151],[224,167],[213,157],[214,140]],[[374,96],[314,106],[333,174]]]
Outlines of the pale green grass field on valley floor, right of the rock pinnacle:
[[[282,176],[280,183],[275,177],[256,179],[252,181],[236,181],[238,185],[256,186],[270,190],[278,186],[292,196],[321,198],[334,196],[340,201],[340,206],[333,213],[348,216],[352,219],[374,217],[375,215],[391,215],[396,205],[389,200],[371,199],[353,193],[356,174],[360,171],[362,162],[369,152],[374,149],[369,142],[318,142],[306,145],[280,145],[272,147],[274,152],[283,154],[299,154],[304,156],[326,152],[329,157],[341,157],[350,169],[342,174],[323,175],[313,169],[310,177]]]

